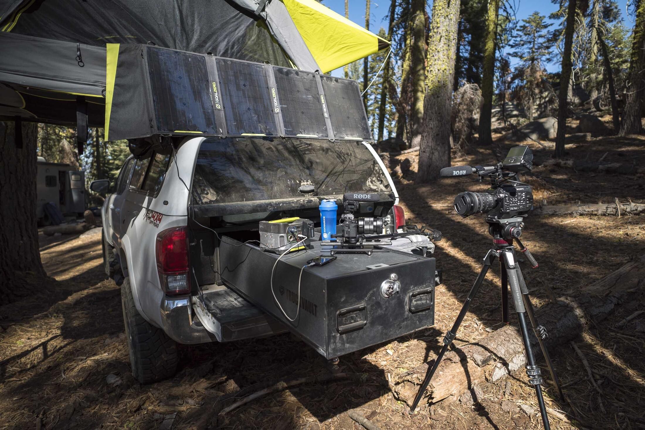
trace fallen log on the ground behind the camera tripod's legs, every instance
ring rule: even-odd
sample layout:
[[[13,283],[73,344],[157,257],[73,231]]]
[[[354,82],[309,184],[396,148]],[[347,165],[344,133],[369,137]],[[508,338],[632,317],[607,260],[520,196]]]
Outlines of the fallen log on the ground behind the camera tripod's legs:
[[[590,321],[602,321],[619,304],[642,295],[644,286],[645,255],[588,286],[580,297],[561,297],[557,303],[537,309],[537,320],[549,333],[545,342],[551,355],[558,353],[556,347],[577,337]],[[533,350],[540,357],[537,339],[533,333],[530,336]],[[507,325],[477,342],[448,351],[425,395],[431,403],[444,399],[452,402],[478,382],[494,382],[525,364],[521,334],[514,325]],[[411,404],[427,370],[428,364],[424,363],[401,373],[393,387],[397,397]]]

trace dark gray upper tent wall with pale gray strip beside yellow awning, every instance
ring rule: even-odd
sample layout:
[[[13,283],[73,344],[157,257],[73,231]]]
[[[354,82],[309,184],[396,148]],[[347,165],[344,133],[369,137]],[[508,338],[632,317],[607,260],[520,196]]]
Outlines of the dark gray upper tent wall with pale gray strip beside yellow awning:
[[[254,0],[0,0],[0,30],[97,46],[152,42],[288,67],[286,53],[297,68],[317,70],[284,4],[269,1],[256,14],[257,7]]]

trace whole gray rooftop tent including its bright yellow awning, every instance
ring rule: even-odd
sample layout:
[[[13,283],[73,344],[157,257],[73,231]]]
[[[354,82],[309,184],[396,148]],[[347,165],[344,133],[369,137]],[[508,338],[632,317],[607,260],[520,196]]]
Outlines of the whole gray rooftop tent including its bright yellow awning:
[[[0,120],[103,126],[106,43],[323,73],[386,46],[313,0],[0,0]]]

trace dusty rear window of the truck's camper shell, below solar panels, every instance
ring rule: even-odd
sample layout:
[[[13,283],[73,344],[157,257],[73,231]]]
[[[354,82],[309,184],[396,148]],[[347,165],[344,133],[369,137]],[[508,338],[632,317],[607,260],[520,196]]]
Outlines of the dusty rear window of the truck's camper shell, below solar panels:
[[[361,142],[305,138],[208,138],[199,149],[194,204],[388,192],[390,183]]]

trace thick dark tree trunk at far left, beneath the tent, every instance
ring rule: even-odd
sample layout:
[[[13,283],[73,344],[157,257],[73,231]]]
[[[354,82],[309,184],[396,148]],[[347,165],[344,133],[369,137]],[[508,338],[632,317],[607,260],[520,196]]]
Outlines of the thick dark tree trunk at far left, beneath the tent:
[[[16,133],[13,122],[0,122],[0,305],[30,293],[25,276],[46,276],[36,227],[36,140],[35,123]]]

